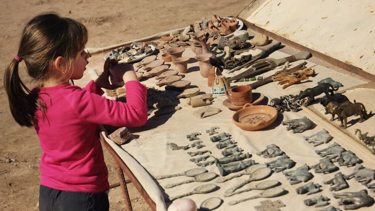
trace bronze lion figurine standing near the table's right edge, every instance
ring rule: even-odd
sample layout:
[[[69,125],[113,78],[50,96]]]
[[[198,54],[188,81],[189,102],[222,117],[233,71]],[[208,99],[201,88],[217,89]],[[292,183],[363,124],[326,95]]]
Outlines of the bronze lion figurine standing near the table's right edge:
[[[347,127],[347,121],[348,117],[353,116],[353,115],[359,115],[359,121],[358,122],[363,122],[369,115],[372,114],[373,111],[370,111],[370,113],[367,114],[365,105],[362,103],[354,103],[352,105],[347,105],[344,107],[336,106],[333,107],[333,110],[337,109],[337,111],[333,111],[338,114],[338,118],[340,119],[340,126],[343,129]]]

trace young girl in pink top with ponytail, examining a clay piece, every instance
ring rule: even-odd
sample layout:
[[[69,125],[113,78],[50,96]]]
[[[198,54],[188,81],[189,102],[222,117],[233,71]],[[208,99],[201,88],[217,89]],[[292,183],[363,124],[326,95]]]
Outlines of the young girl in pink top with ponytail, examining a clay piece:
[[[98,124],[139,127],[147,120],[146,87],[132,65],[116,68],[124,81],[126,104],[102,97],[114,89],[104,72],[86,87],[70,85],[83,77],[90,57],[84,51],[87,30],[78,21],[54,13],[29,21],[17,55],[4,73],[10,110],[21,126],[34,127],[43,151],[39,207],[46,210],[109,210],[108,171],[98,138]],[[28,89],[19,76],[24,62],[37,87]],[[119,65],[120,66],[120,65]]]

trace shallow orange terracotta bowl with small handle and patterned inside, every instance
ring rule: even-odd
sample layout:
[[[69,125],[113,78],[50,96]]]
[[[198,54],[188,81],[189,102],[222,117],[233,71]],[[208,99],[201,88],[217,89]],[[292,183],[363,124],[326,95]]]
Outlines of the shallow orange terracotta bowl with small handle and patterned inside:
[[[241,129],[257,131],[271,126],[276,118],[277,110],[274,107],[245,104],[233,114],[232,120]]]

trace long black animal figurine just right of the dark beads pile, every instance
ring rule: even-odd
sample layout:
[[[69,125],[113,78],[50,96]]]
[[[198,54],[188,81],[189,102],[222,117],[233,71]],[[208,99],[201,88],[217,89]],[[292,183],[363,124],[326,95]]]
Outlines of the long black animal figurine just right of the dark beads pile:
[[[332,88],[332,89],[330,89],[330,88]],[[331,84],[322,83],[322,84],[318,84],[317,86],[314,86],[312,88],[307,88],[304,91],[300,91],[299,94],[298,94],[298,99],[302,100],[304,98],[308,98],[305,106],[309,106],[315,100],[315,98],[314,98],[315,96],[318,96],[322,93],[325,93],[326,95],[330,95],[330,93],[331,93],[331,96],[333,96],[333,91],[337,91],[337,90],[338,89],[334,89],[333,85],[331,85]]]

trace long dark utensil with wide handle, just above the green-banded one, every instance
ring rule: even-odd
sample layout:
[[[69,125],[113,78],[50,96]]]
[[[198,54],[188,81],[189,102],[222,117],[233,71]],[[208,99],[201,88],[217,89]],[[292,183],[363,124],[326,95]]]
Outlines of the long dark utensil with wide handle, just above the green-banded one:
[[[275,67],[284,64],[286,62],[294,62],[302,59],[307,59],[311,57],[311,53],[308,51],[302,51],[297,54],[294,54],[289,57],[285,57],[282,59],[267,59],[264,61],[259,61],[258,63],[252,64],[249,68],[245,69],[242,73],[228,78],[229,81],[237,81],[241,78],[251,78],[254,76],[259,75],[260,73],[267,72]]]

